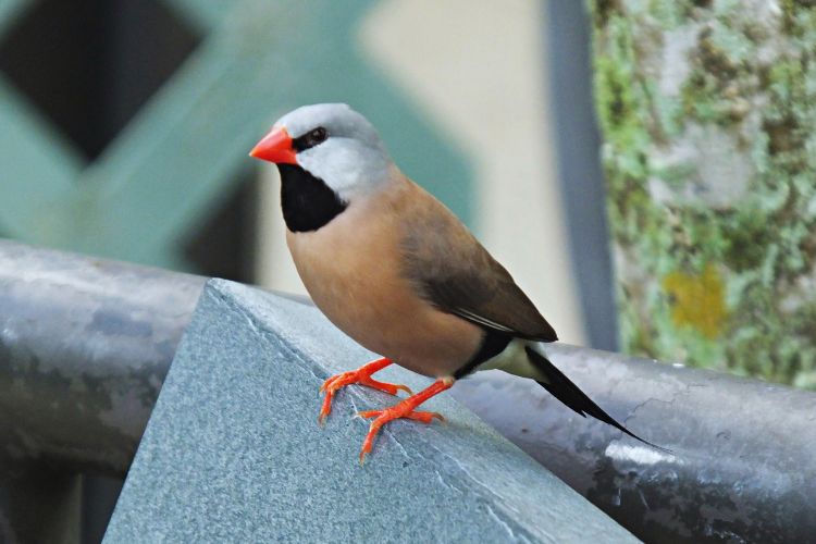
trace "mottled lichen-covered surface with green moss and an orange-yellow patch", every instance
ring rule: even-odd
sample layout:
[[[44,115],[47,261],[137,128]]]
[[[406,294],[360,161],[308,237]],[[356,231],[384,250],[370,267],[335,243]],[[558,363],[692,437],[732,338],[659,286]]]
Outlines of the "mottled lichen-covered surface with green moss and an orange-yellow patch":
[[[590,7],[622,348],[816,390],[816,1]]]

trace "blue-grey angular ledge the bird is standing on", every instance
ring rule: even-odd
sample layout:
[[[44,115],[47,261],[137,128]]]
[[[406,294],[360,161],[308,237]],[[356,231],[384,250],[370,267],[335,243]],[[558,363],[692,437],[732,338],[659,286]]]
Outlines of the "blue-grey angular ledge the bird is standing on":
[[[350,387],[321,430],[318,387],[372,357],[314,308],[209,282],[106,542],[636,542],[449,395],[428,403],[447,424],[392,423],[360,467],[351,416],[393,398]]]

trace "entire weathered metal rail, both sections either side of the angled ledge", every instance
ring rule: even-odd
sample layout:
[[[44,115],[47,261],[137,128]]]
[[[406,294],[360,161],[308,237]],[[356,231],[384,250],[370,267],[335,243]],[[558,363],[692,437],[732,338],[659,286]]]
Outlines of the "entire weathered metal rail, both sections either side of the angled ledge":
[[[122,475],[205,279],[0,240],[0,456]],[[816,394],[554,345],[659,452],[499,372],[454,395],[644,540],[816,534]]]

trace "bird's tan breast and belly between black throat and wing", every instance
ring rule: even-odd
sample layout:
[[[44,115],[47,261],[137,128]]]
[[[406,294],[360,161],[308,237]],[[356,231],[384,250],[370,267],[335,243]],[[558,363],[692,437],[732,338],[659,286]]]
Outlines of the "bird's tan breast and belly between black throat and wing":
[[[433,308],[401,274],[401,225],[422,198],[400,176],[319,231],[287,232],[286,240],[314,304],[335,325],[401,367],[444,376],[475,354],[482,332]]]

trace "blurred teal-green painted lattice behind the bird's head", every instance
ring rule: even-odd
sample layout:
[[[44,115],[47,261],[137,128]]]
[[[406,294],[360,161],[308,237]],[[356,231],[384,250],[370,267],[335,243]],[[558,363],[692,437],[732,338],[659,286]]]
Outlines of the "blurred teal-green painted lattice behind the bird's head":
[[[397,162],[470,218],[470,172],[356,37],[375,2],[162,1],[198,48],[92,162],[0,74],[0,232],[61,249],[189,270],[180,239],[255,164],[247,150],[282,113],[346,101]],[[34,0],[0,2],[0,44]],[[32,60],[36,62],[36,59]],[[47,70],[47,60],[42,60]]]

